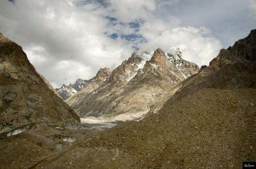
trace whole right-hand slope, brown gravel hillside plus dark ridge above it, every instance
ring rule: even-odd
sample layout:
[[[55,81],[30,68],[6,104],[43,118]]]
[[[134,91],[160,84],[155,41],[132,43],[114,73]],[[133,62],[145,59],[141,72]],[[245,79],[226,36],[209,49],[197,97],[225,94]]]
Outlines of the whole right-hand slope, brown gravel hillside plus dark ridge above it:
[[[241,168],[242,161],[255,161],[255,36],[252,30],[221,50],[157,113],[93,136],[37,167]]]

